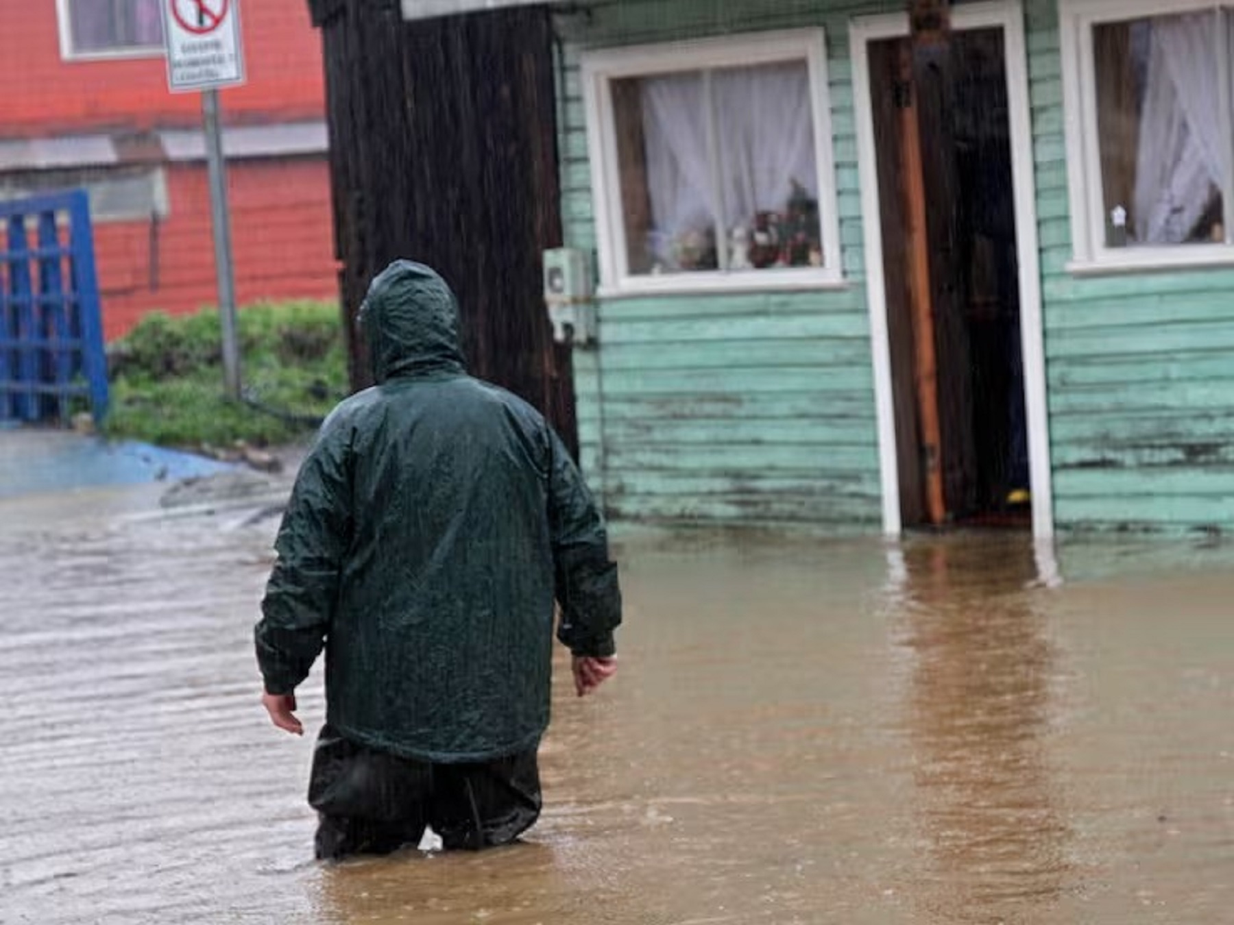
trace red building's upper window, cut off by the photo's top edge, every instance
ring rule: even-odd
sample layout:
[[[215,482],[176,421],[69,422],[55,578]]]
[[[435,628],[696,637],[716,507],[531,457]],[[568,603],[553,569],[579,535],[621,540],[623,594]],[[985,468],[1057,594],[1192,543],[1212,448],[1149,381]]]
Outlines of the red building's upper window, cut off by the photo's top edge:
[[[65,58],[157,54],[163,51],[160,0],[59,0]]]

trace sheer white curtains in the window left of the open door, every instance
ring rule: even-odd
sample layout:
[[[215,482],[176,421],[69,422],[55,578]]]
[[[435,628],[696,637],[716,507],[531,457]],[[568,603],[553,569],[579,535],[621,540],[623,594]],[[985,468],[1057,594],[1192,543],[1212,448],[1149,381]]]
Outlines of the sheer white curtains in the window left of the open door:
[[[684,232],[714,231],[717,217],[727,238],[734,227],[749,227],[755,212],[782,211],[792,180],[818,197],[805,62],[647,78],[642,96],[654,227],[648,245],[659,259],[671,259],[671,242]]]

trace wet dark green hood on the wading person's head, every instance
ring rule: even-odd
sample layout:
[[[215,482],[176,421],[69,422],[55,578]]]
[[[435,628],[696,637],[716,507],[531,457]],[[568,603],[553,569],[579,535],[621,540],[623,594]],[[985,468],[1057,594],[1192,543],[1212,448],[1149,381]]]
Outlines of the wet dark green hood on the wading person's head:
[[[383,270],[369,286],[359,321],[378,382],[464,371],[458,300],[423,264],[395,260]]]

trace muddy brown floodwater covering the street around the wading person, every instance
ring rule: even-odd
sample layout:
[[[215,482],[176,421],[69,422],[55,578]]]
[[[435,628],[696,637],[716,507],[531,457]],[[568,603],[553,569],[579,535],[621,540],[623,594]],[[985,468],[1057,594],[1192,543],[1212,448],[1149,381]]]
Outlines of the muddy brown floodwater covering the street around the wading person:
[[[528,842],[323,867],[275,522],[86,501],[0,504],[0,921],[1234,921],[1228,550],[629,534]]]

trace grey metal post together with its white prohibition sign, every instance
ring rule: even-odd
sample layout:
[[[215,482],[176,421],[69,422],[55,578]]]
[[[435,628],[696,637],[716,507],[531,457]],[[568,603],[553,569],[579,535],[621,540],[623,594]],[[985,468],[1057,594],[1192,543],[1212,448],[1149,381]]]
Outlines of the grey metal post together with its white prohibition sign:
[[[222,319],[223,385],[241,397],[239,338],[232,270],[231,213],[227,207],[227,162],[218,117],[218,88],[244,83],[238,0],[163,0],[167,79],[172,92],[201,91],[210,207]]]

